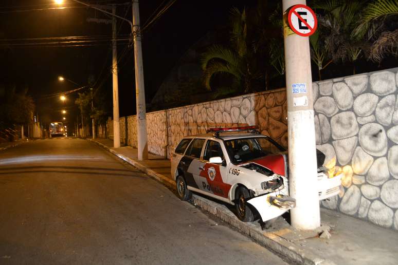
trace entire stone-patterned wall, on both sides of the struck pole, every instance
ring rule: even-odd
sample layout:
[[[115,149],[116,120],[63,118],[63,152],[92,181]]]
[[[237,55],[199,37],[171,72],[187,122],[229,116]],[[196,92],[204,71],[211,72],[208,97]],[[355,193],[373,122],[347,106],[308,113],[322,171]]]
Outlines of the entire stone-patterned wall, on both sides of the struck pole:
[[[329,174],[344,173],[339,196],[322,205],[398,230],[398,68],[313,83],[317,148]],[[136,116],[120,119],[121,142],[137,147]],[[247,94],[147,113],[150,153],[170,157],[206,128],[258,125],[287,146],[286,90]],[[112,120],[108,137],[113,138]]]

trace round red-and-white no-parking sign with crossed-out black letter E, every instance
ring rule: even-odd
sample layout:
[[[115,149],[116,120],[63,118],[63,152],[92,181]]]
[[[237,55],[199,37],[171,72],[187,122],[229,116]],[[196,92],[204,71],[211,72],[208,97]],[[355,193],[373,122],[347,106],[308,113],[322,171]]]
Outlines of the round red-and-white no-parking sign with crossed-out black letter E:
[[[304,37],[312,35],[318,24],[314,11],[305,5],[291,7],[287,15],[287,21],[296,34]]]

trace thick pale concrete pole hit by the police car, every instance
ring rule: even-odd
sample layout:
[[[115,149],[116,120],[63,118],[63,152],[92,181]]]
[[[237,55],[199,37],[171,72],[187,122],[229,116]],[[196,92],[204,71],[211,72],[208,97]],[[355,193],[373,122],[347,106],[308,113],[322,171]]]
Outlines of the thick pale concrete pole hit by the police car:
[[[314,106],[309,37],[289,31],[286,10],[305,0],[282,0],[286,62],[287,127],[290,168],[290,195],[296,199],[291,220],[294,228],[313,230],[320,226],[317,189]],[[294,84],[305,84],[306,91],[293,93]]]

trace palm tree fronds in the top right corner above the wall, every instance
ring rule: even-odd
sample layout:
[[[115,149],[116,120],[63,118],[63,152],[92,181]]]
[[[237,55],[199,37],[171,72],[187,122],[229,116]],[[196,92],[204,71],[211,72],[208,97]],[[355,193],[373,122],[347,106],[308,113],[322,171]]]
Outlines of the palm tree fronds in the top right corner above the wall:
[[[394,0],[376,0],[370,3],[358,20],[352,36],[372,41],[369,58],[381,62],[386,54],[398,56],[398,29],[396,17],[398,2]],[[395,23],[392,23],[395,19]],[[389,28],[389,26],[392,27]]]

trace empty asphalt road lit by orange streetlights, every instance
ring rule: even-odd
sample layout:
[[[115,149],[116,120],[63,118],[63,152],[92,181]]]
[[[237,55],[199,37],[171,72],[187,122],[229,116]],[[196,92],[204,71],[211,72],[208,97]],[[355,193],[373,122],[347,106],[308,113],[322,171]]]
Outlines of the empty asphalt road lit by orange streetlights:
[[[94,143],[0,152],[0,264],[286,264]]]

